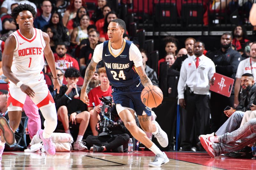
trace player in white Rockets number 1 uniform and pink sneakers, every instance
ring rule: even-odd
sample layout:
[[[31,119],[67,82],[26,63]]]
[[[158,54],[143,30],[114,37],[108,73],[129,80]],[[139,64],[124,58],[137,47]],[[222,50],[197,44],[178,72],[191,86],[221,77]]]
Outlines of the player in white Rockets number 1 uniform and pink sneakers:
[[[6,48],[3,52],[3,72],[9,78],[7,101],[9,123],[13,131],[19,127],[21,110],[28,95],[45,118],[45,128],[38,130],[37,135],[42,139],[45,151],[54,155],[55,147],[52,144],[51,134],[57,126],[57,114],[54,100],[42,72],[44,56],[52,70],[54,90],[57,89],[57,93],[59,93],[60,83],[49,45],[50,38],[47,33],[33,27],[35,15],[35,9],[29,4],[18,5],[11,14],[20,29],[5,41]],[[14,134],[10,133],[11,128],[6,121],[0,120],[0,128],[4,133],[8,132],[8,136],[1,136],[0,155],[2,157],[4,142],[14,143]]]

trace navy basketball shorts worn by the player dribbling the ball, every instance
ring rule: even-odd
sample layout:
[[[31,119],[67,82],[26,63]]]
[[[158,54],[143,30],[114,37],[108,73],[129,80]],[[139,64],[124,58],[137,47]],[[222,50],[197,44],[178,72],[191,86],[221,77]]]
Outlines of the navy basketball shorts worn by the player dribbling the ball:
[[[133,109],[137,115],[142,115],[143,111],[151,116],[151,108],[145,106],[141,99],[140,94],[144,89],[140,80],[133,85],[125,87],[114,87],[112,86],[112,96],[115,104],[121,104],[122,107],[128,107]]]

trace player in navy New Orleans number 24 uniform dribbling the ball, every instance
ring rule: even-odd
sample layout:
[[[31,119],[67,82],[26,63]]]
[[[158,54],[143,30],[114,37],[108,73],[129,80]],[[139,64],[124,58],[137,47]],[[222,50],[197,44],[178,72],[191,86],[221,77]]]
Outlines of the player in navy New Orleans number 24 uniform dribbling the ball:
[[[125,23],[122,19],[114,19],[109,23],[109,41],[99,44],[94,50],[85,72],[81,100],[89,104],[86,88],[96,65],[103,59],[108,80],[112,84],[112,95],[118,115],[132,136],[156,154],[154,161],[148,166],[160,167],[169,162],[169,159],[148,139],[145,132],[152,132],[163,147],[168,145],[168,137],[156,121],[151,121],[151,109],[140,99],[143,88],[152,85],[152,82],[143,68],[140,50],[131,41],[123,39],[124,32]],[[138,115],[140,126],[145,132],[136,125],[134,112]]]

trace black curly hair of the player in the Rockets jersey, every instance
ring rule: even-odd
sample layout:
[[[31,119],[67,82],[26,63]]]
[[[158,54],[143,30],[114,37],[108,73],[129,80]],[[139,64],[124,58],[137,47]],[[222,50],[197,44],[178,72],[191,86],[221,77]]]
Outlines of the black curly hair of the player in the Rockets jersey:
[[[11,17],[13,18],[15,24],[17,24],[16,19],[21,11],[29,11],[31,12],[33,18],[36,17],[36,11],[33,6],[31,6],[30,4],[19,4],[18,6],[13,8],[11,13]]]

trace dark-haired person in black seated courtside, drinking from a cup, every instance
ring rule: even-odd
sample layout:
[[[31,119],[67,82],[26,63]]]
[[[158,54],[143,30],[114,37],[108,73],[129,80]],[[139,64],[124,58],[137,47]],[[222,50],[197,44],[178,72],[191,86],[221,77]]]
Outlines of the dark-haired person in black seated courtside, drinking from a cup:
[[[90,113],[85,111],[86,106],[80,100],[81,88],[76,85],[80,76],[80,71],[75,68],[69,68],[66,70],[64,76],[67,85],[60,87],[60,93],[56,94],[54,100],[58,120],[62,122],[65,132],[70,135],[69,122],[72,124],[80,123],[78,136],[74,143],[74,150],[87,150],[82,139],[89,123]],[[76,89],[79,94],[78,97],[75,97],[77,95]]]

